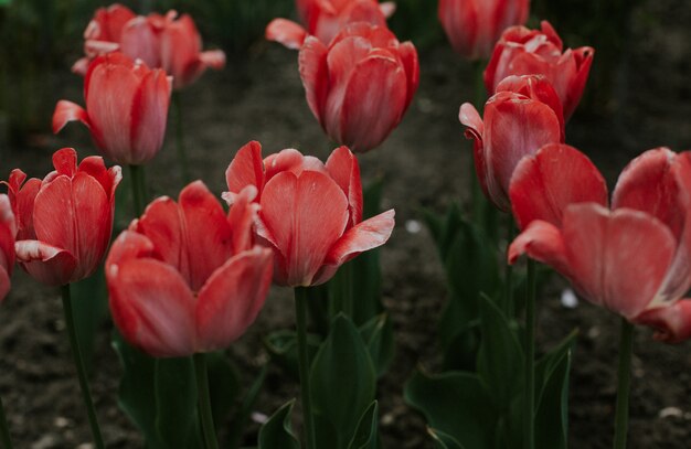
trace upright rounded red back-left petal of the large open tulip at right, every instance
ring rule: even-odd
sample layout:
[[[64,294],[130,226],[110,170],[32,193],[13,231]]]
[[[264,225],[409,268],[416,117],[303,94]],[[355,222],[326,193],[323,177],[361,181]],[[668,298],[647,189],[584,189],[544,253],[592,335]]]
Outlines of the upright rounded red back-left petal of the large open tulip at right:
[[[520,229],[534,220],[561,227],[570,204],[607,205],[607,184],[597,168],[581,151],[562,143],[524,157],[513,172],[509,194]]]

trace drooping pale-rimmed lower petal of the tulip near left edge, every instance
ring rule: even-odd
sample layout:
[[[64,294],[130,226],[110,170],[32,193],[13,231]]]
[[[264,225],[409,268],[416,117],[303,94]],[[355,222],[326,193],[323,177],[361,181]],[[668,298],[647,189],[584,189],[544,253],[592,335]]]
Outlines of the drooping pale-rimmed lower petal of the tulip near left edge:
[[[70,252],[39,240],[18,240],[14,252],[22,268],[49,286],[68,284],[77,265]]]

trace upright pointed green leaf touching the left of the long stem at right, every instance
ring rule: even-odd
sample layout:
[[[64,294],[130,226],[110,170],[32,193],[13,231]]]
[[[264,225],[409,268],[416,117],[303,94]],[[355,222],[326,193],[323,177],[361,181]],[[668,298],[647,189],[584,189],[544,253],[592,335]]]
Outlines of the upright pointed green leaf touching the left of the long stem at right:
[[[509,321],[487,297],[480,300],[480,329],[478,375],[488,385],[495,405],[508,410],[521,392],[523,350]]]

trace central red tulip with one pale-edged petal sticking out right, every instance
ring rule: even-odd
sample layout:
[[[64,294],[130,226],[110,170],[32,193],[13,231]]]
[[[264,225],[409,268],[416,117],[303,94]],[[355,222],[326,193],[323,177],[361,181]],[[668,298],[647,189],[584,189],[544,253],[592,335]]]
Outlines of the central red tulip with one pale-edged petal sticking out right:
[[[228,203],[247,185],[257,190],[257,235],[274,250],[278,285],[323,284],[342,264],[386,243],[394,227],[393,210],[361,221],[360,168],[346,147],[323,164],[293,149],[262,160],[259,143],[249,142],[225,177]]]

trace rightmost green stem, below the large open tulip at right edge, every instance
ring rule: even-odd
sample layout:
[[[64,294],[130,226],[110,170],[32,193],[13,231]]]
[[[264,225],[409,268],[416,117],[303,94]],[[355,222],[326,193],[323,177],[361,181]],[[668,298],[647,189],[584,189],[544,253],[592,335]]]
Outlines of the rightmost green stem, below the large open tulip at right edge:
[[[621,318],[619,340],[619,372],[617,385],[617,415],[614,429],[614,448],[626,448],[628,434],[628,399],[631,385],[631,353],[634,349],[634,324]]]

